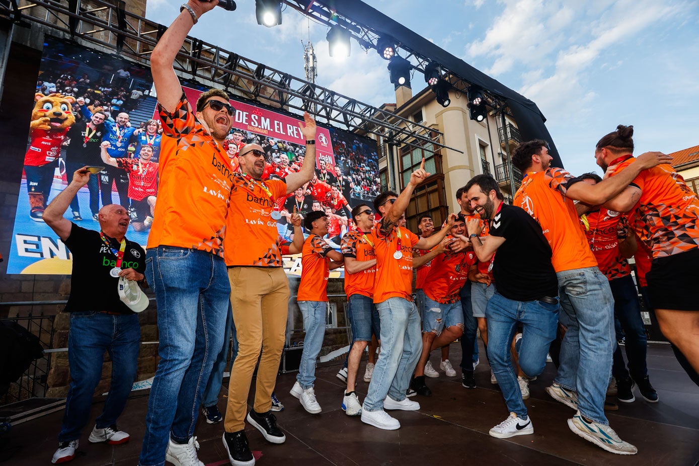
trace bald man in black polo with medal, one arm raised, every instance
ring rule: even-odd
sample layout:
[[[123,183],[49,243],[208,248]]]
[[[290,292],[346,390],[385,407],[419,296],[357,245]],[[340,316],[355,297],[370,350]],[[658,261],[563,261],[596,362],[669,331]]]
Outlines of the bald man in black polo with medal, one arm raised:
[[[66,305],[66,312],[71,313],[68,354],[72,380],[52,463],[75,458],[80,431],[92,408],[92,394],[101,378],[105,351],[112,359],[112,384],[89,441],[129,442],[129,434],[117,427],[117,418],[136,379],[140,325],[138,316],[120,300],[117,285],[120,277],[143,280],[145,252],[124,237],[129,213],[121,205],[101,208],[99,232],[81,228],[63,217],[89,177],[86,168],[76,170],[71,183],[46,207],[43,216],[73,255],[71,296]]]

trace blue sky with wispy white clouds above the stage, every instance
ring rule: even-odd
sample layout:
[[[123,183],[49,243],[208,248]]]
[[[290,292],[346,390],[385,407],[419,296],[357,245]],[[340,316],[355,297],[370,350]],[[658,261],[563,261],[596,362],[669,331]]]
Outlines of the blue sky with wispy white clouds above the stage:
[[[319,85],[376,107],[396,101],[375,50],[352,41],[350,57],[331,58],[326,26],[285,7],[282,24],[267,28],[254,0],[236,3],[234,12],[207,13],[190,35],[301,78],[310,38]],[[571,173],[600,173],[594,147],[617,124],[633,124],[635,154],[699,145],[699,1],[365,3],[534,101]],[[178,2],[147,1],[147,19],[161,24],[178,11]],[[413,94],[424,86],[416,71]]]

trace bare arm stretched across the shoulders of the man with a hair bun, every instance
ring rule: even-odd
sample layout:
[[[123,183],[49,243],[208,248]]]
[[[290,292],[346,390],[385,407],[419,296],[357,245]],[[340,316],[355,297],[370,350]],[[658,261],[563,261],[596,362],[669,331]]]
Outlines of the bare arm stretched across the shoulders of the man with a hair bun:
[[[628,185],[642,170],[653,168],[661,163],[668,163],[670,160],[672,160],[672,157],[662,152],[645,152],[617,175],[605,178],[597,184],[575,183],[568,188],[565,196],[589,205],[605,204],[607,201],[612,200],[614,196],[626,190]],[[630,207],[633,207],[633,205]]]

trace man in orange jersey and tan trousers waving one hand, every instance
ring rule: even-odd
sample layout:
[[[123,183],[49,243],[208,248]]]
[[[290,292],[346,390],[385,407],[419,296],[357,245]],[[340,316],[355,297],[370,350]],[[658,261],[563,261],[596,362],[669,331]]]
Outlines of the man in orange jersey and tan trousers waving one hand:
[[[289,279],[282,268],[277,230],[282,206],[277,201],[313,175],[315,120],[308,113],[303,120],[299,129],[306,140],[306,152],[298,173],[289,173],[283,180],[263,180],[264,150],[260,145],[247,144],[238,154],[240,170],[232,175],[226,230],[236,234],[226,236],[224,250],[239,347],[231,369],[223,442],[233,464],[254,464],[245,436],[246,418],[268,442],[280,444],[286,440],[270,412],[289,307]],[[246,417],[247,395],[258,358],[255,401]]]

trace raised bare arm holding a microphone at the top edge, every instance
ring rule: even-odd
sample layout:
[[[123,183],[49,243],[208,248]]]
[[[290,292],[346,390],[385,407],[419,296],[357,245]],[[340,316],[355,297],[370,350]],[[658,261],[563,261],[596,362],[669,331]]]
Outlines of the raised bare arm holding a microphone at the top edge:
[[[187,5],[192,8],[197,18],[207,11],[212,10],[218,4],[218,0],[199,1],[189,0]],[[194,18],[189,10],[183,9],[173,24],[166,29],[157,45],[150,54],[150,71],[153,76],[155,92],[158,102],[168,112],[175,111],[180,97],[182,96],[182,86],[175,74],[173,62],[177,57],[182,43],[185,42],[189,30],[194,26]]]

